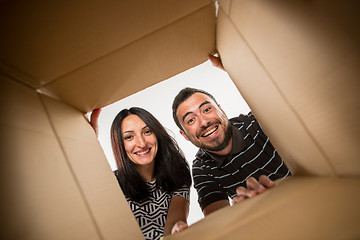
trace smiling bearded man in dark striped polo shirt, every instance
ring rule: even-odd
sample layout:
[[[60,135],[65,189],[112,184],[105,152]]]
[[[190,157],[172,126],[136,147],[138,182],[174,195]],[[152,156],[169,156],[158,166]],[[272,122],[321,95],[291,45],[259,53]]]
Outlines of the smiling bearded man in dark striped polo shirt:
[[[229,197],[240,202],[290,175],[252,113],[228,120],[211,94],[185,88],[174,99],[173,118],[199,148],[192,172],[205,216],[228,206]]]

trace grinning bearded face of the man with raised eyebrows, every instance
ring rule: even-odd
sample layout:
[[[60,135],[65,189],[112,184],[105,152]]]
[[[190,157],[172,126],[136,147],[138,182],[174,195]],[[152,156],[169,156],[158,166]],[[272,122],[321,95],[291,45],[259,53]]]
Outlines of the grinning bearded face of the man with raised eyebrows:
[[[195,146],[217,152],[229,144],[228,118],[206,94],[195,93],[186,99],[179,105],[176,116],[184,129],[180,133]]]

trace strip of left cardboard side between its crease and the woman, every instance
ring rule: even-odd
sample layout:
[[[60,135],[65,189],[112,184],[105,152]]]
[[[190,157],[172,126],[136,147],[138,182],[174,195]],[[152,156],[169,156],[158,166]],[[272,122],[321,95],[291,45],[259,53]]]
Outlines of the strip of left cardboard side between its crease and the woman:
[[[84,115],[43,96],[74,178],[104,239],[143,239],[138,223]]]

